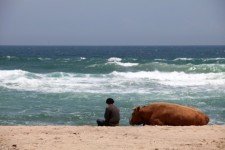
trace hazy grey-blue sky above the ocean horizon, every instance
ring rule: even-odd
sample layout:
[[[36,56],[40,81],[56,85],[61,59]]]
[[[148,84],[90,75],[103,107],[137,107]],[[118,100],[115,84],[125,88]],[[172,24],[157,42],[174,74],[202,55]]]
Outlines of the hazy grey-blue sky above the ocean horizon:
[[[225,45],[225,0],[0,0],[0,45]]]

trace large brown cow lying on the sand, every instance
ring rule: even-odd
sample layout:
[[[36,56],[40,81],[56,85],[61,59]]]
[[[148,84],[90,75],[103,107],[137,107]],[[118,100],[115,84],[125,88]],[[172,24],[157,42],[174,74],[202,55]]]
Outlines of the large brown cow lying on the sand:
[[[194,108],[163,102],[136,107],[130,120],[131,125],[201,126],[208,122],[209,117]]]

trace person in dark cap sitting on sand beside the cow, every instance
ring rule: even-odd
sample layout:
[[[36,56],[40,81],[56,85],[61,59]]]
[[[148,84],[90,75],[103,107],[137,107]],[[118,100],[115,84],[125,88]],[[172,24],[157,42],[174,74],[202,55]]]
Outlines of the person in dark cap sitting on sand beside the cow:
[[[108,107],[105,109],[104,118],[105,120],[98,119],[98,126],[118,126],[120,121],[120,110],[113,105],[114,100],[112,98],[106,99]]]

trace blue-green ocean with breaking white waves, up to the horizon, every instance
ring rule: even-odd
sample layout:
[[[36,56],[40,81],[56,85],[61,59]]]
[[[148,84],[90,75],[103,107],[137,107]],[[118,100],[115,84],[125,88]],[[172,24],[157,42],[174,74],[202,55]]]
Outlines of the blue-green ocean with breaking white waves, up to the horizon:
[[[0,46],[0,125],[96,125],[105,100],[195,107],[225,124],[225,46]]]

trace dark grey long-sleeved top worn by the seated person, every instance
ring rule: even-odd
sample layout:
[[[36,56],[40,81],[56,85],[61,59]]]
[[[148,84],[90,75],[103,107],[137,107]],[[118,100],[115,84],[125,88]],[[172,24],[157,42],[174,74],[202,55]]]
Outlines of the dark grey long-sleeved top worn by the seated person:
[[[118,124],[120,121],[120,110],[113,104],[105,109],[105,122],[108,124]]]

